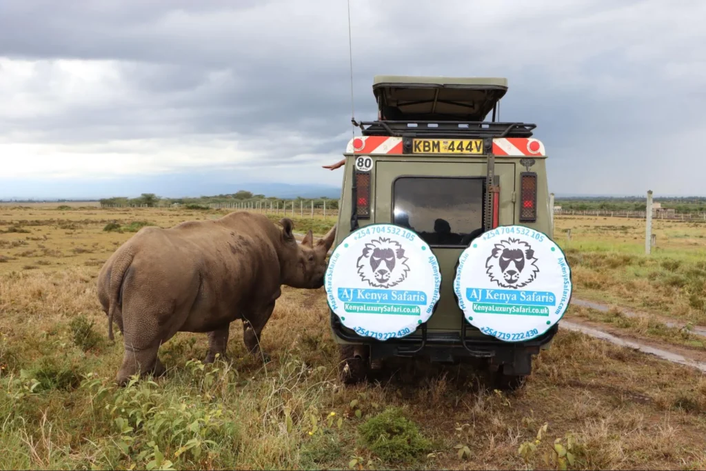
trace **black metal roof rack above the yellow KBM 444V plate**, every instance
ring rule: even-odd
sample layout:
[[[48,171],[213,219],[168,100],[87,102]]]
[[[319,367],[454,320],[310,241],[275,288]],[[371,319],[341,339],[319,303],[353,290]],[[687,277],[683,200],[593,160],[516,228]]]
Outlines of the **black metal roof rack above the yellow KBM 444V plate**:
[[[360,121],[363,136],[529,138],[536,124],[489,121]],[[364,127],[367,126],[367,127]]]

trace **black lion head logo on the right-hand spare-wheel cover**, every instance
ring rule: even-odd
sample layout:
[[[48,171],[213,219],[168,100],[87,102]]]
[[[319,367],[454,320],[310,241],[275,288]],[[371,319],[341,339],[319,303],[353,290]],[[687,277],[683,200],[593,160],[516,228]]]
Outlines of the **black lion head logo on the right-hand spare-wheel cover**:
[[[486,260],[486,273],[491,281],[503,288],[521,288],[529,285],[539,273],[534,250],[520,239],[507,239],[495,244]]]

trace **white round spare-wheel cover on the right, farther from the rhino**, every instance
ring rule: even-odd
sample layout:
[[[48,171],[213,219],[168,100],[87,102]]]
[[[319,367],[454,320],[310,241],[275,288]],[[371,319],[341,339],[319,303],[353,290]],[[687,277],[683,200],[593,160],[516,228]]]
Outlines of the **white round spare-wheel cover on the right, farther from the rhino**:
[[[453,286],[472,326],[500,340],[522,342],[542,335],[564,315],[571,270],[546,234],[501,226],[462,252]]]

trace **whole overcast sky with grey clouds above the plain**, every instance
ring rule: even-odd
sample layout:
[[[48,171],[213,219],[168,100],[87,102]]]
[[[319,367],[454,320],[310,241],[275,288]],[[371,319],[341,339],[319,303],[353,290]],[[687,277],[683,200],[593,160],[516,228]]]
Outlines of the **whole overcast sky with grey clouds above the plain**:
[[[350,8],[357,119],[376,74],[502,76],[501,118],[537,124],[551,191],[706,195],[706,1]],[[352,136],[348,47],[345,0],[0,0],[0,183],[339,185],[321,165]]]

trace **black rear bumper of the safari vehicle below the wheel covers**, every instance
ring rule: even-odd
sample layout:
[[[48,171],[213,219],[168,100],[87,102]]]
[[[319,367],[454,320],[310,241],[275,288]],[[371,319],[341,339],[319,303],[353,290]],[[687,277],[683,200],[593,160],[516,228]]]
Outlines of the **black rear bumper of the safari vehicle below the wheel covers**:
[[[529,365],[523,366],[530,361],[530,356],[538,354],[543,347],[548,347],[558,331],[557,323],[532,340],[504,342],[480,333],[465,318],[459,316],[458,332],[433,333],[422,324],[406,337],[383,341],[362,337],[343,326],[333,312],[330,312],[330,316],[331,328],[337,342],[369,346],[371,360],[385,357],[429,357],[432,362],[453,362],[459,358],[470,357],[486,359],[491,368],[503,364],[510,367],[516,365],[520,371],[529,368]],[[474,331],[473,334],[468,335],[471,331]]]

